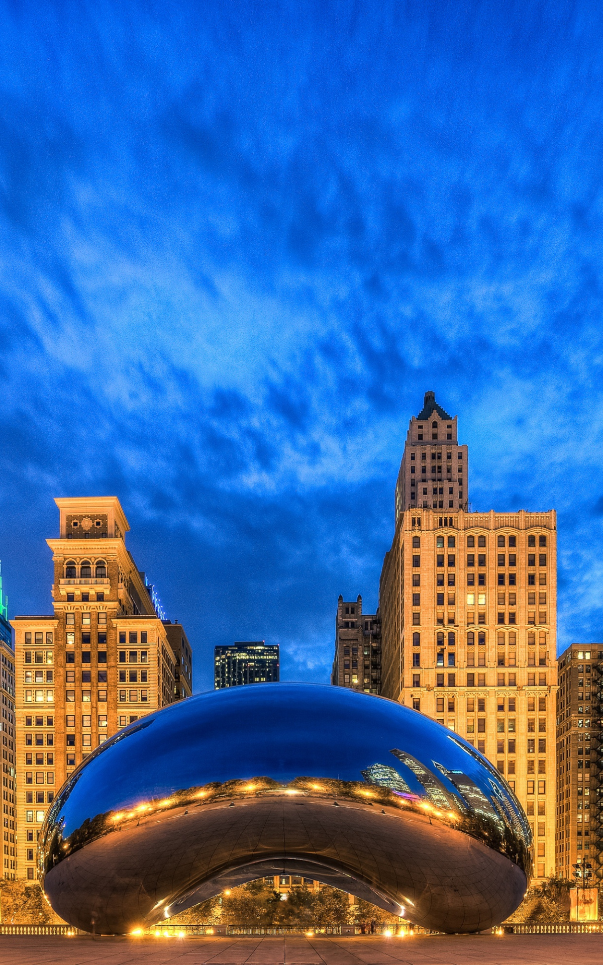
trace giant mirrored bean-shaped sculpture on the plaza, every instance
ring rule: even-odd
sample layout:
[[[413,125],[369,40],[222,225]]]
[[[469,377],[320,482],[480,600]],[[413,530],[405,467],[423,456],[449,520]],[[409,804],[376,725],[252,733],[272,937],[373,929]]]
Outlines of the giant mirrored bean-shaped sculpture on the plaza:
[[[514,911],[533,845],[504,778],[452,731],[380,697],[269,683],[175,703],[98,747],[53,802],[38,861],[57,914],[100,933],[283,873],[454,932]]]

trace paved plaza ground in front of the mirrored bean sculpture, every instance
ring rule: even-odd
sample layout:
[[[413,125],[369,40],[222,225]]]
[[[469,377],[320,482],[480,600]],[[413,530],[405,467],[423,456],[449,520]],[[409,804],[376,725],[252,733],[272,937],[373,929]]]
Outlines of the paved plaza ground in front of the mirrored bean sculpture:
[[[413,938],[0,936],[3,965],[601,965],[603,935]]]

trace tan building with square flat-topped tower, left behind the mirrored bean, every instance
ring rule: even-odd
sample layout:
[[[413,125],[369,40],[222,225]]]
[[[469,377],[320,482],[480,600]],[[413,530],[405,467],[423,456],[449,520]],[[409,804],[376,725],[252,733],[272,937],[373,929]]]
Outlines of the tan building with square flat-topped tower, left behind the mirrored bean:
[[[125,547],[129,526],[119,500],[55,502],[60,537],[46,540],[54,614],[12,620],[17,868],[30,879],[41,822],[69,774],[126,724],[178,700],[181,689],[181,654]]]

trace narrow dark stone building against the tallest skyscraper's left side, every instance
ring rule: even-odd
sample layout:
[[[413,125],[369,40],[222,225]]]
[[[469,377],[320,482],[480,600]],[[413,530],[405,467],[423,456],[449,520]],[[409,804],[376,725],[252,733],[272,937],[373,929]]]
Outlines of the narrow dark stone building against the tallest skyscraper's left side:
[[[331,683],[381,693],[381,620],[378,611],[363,614],[360,594],[350,602],[341,595],[338,600]]]

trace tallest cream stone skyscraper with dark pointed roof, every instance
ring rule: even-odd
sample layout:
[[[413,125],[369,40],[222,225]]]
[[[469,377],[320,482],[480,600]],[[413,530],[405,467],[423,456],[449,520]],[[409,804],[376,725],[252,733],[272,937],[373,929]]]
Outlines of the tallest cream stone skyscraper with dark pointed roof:
[[[555,871],[556,514],[467,512],[466,469],[456,419],[427,393],[381,572],[381,694],[461,734],[505,775],[541,879]]]

